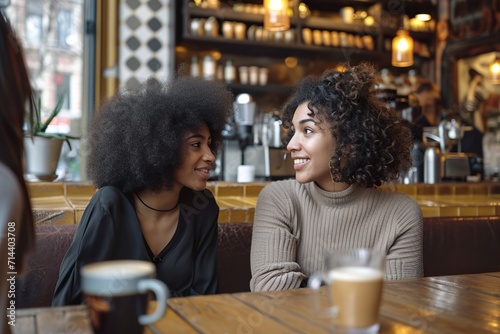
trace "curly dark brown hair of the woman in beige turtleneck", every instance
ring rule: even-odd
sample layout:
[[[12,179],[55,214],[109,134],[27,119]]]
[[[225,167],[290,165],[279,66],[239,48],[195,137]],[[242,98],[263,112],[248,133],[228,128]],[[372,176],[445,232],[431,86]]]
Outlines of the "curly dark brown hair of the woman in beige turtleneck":
[[[343,65],[343,70],[327,70],[320,78],[299,82],[282,108],[288,129],[285,144],[293,136],[295,110],[308,101],[310,115],[326,122],[336,141],[329,152],[333,181],[371,188],[396,180],[411,167],[410,129],[376,98],[372,65]]]

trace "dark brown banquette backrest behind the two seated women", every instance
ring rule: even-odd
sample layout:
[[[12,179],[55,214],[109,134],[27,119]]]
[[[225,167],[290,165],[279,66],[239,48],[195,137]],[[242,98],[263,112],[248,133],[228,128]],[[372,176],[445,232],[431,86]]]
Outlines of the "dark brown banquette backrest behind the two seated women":
[[[251,222],[219,223],[220,292],[249,291]],[[37,226],[36,249],[16,286],[16,307],[50,306],[77,225]],[[500,217],[424,218],[424,274],[500,271]]]

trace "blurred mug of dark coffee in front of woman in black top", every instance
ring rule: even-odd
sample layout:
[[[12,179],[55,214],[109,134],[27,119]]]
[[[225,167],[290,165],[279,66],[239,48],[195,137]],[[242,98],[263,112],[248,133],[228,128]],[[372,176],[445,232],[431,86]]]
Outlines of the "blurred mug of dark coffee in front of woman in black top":
[[[144,325],[163,317],[168,289],[155,279],[151,262],[138,260],[103,261],[81,270],[82,292],[96,334],[141,334]],[[154,292],[156,310],[146,314],[149,295]]]

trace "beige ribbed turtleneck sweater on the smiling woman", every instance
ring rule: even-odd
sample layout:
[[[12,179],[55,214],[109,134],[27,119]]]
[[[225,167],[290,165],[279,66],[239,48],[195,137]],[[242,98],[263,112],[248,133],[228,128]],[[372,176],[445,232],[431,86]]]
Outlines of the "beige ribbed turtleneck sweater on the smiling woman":
[[[422,243],[422,211],[402,193],[357,185],[328,192],[314,182],[272,182],[255,210],[250,289],[298,288],[324,269],[324,254],[335,248],[386,251],[387,280],[422,277]]]

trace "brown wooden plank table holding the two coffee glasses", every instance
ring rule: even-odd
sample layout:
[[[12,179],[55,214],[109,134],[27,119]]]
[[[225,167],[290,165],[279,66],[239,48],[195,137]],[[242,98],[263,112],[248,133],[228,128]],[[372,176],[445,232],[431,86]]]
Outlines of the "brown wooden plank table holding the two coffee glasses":
[[[327,333],[326,292],[172,298],[156,330],[145,332]],[[380,333],[500,333],[500,272],[386,282],[380,313]],[[16,316],[15,334],[92,332],[83,306],[18,310]]]

